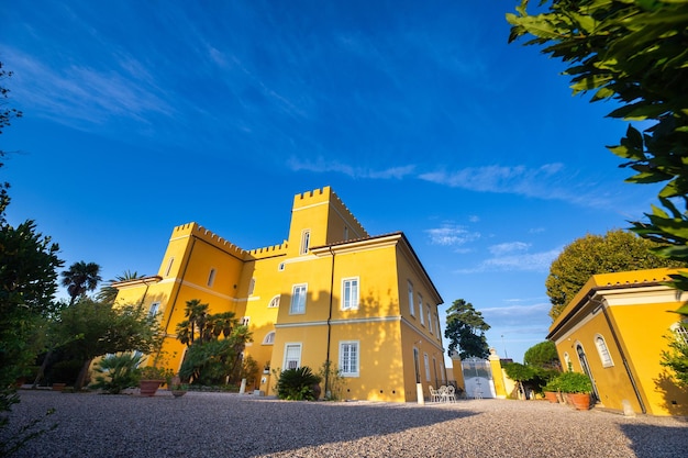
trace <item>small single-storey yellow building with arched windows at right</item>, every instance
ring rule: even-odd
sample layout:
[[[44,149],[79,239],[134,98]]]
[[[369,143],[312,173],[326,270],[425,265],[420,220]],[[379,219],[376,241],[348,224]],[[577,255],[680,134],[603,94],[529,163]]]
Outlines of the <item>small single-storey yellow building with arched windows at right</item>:
[[[596,275],[552,324],[564,366],[587,372],[603,407],[651,415],[688,415],[688,391],[659,362],[673,313],[686,300],[663,284],[670,269]]]

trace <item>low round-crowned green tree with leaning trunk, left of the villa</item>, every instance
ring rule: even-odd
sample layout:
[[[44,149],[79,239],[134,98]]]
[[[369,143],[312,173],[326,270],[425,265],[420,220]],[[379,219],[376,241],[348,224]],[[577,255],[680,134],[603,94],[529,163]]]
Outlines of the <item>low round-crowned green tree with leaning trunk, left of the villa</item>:
[[[74,387],[80,390],[93,358],[133,350],[152,353],[158,348],[162,333],[156,316],[138,305],[112,308],[84,297],[60,312],[54,336],[63,343],[60,351],[82,361]]]

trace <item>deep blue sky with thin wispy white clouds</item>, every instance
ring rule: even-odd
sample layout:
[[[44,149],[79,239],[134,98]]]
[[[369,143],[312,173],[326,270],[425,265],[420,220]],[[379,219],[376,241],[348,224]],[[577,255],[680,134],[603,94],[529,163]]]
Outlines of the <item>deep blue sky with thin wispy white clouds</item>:
[[[293,194],[332,186],[369,233],[407,234],[442,315],[473,303],[521,361],[551,323],[551,261],[656,189],[604,148],[626,127],[611,103],[507,44],[517,3],[5,4],[3,86],[24,112],[1,137],[9,220],[35,220],[66,266],[154,275],[174,226],[279,244]]]

